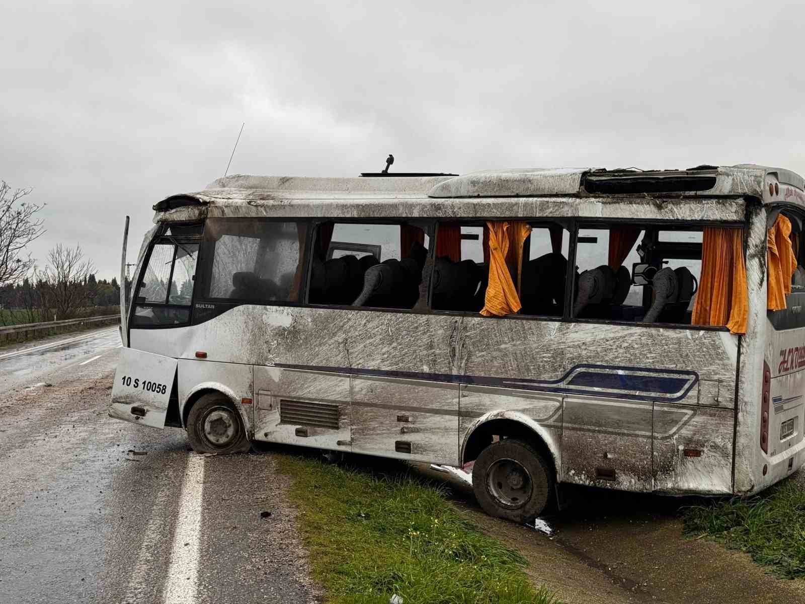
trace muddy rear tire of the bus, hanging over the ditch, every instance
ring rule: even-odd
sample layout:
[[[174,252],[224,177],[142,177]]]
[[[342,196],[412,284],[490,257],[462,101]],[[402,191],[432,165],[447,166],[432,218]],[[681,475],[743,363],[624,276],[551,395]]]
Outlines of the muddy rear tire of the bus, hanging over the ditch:
[[[554,487],[551,465],[516,438],[493,442],[473,465],[475,498],[490,516],[530,522],[547,507]]]

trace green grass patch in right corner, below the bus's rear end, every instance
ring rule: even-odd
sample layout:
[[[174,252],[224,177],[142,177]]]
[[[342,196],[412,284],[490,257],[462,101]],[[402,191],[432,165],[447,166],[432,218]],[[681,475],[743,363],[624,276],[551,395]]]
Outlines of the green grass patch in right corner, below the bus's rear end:
[[[793,480],[762,496],[689,507],[683,519],[688,535],[711,536],[781,577],[805,577],[805,489]]]

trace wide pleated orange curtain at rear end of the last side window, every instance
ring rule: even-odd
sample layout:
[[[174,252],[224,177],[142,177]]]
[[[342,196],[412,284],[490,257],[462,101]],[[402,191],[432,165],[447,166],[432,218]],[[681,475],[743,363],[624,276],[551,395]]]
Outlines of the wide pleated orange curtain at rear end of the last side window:
[[[730,333],[746,333],[749,292],[743,247],[740,229],[704,229],[702,271],[691,324],[726,325]]]

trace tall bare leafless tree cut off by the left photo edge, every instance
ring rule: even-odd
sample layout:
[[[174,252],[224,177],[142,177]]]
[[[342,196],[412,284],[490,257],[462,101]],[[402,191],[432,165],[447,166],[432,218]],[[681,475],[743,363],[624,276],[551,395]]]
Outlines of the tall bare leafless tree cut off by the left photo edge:
[[[25,248],[44,233],[42,219],[35,214],[43,205],[31,204],[24,197],[30,188],[11,192],[5,180],[0,180],[0,285],[17,283],[34,264]]]

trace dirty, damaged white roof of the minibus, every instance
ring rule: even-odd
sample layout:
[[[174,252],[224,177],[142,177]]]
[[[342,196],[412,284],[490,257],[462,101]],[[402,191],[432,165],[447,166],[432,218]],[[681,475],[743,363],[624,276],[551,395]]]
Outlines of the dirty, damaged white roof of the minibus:
[[[607,205],[617,204],[617,198],[620,197],[627,206],[635,206],[635,198],[671,197],[685,199],[685,205],[701,207],[704,201],[700,198],[712,200],[713,197],[723,197],[726,202],[747,196],[757,197],[763,203],[788,202],[805,207],[805,180],[790,170],[753,164],[652,171],[530,168],[473,172],[463,176],[390,175],[383,178],[235,175],[215,180],[204,191],[167,197],[154,209],[157,211],[155,221],[188,221],[207,215],[401,215],[399,212],[394,214],[392,206],[409,206],[403,211],[403,216],[467,217],[481,215],[477,207],[469,212],[468,204],[489,206],[493,201],[500,201],[500,205],[508,206],[506,209],[495,207],[488,214],[492,217],[526,216],[535,211],[535,208],[523,207],[520,203],[515,204],[517,212],[506,213],[514,208],[513,201],[519,198],[524,202],[523,197],[532,198],[535,203],[543,201],[539,203],[540,206],[544,206],[547,200],[538,198],[545,197],[565,198],[568,203],[572,201],[568,198],[576,198],[576,201],[587,204],[593,198],[598,198],[606,201]],[[485,199],[481,201],[478,198]],[[463,204],[459,203],[461,199],[464,200]],[[400,201],[406,203],[400,204]],[[558,216],[561,213],[547,215]],[[617,215],[630,217],[628,213]],[[712,219],[727,220],[729,217]]]

